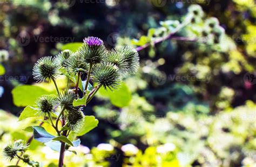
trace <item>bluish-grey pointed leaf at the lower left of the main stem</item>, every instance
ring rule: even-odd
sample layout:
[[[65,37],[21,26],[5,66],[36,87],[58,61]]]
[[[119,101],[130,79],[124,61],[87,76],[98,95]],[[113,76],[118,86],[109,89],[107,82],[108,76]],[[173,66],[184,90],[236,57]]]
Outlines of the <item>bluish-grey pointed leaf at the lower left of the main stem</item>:
[[[33,134],[36,141],[46,143],[51,141],[55,136],[49,134],[43,127],[33,126]]]

